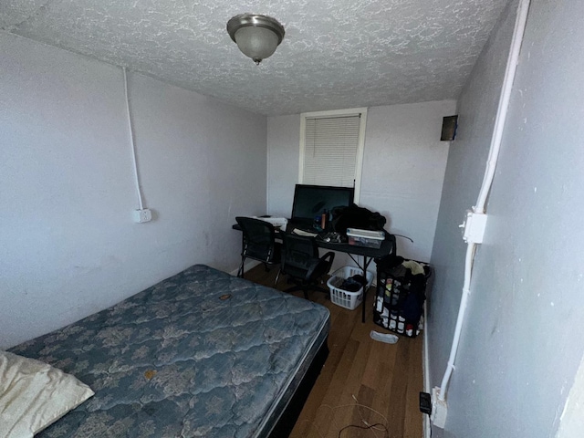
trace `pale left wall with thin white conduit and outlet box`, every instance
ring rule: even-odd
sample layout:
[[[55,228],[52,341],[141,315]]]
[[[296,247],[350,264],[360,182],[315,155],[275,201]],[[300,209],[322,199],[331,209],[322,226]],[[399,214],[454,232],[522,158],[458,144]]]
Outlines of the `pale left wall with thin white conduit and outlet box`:
[[[266,210],[266,117],[0,33],[0,348],[194,263],[239,260],[236,214]]]

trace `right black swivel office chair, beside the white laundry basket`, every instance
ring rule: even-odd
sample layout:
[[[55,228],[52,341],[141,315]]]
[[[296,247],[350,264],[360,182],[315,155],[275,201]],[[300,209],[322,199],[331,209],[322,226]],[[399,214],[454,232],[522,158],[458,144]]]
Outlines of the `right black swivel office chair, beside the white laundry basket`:
[[[318,290],[328,294],[328,289],[318,286],[318,279],[330,270],[335,259],[335,253],[329,251],[322,257],[318,256],[318,245],[313,237],[285,233],[284,254],[280,272],[288,276],[288,279],[296,286],[289,287],[285,292],[302,290],[304,297],[308,299],[308,290]],[[278,276],[280,275],[278,272]]]

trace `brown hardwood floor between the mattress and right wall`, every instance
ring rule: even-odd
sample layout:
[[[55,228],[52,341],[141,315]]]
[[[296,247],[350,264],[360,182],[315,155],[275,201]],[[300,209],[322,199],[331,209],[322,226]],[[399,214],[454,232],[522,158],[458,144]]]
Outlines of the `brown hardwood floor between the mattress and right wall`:
[[[276,271],[256,266],[245,278],[273,287]],[[289,286],[280,278],[279,289]],[[294,295],[302,297],[301,292]],[[400,337],[396,344],[370,339],[372,329],[388,333],[373,324],[373,295],[370,288],[363,324],[360,308],[340,308],[325,294],[310,293],[311,300],[330,310],[330,353],[290,438],[422,438],[422,335]],[[343,430],[367,427],[365,422],[382,426]]]

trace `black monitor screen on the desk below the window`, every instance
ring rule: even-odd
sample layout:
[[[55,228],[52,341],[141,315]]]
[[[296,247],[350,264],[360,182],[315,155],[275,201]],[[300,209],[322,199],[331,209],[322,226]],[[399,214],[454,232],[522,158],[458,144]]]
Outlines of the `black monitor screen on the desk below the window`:
[[[292,206],[293,221],[314,221],[314,218],[330,213],[334,207],[349,206],[353,203],[352,187],[331,187],[326,185],[297,184]]]

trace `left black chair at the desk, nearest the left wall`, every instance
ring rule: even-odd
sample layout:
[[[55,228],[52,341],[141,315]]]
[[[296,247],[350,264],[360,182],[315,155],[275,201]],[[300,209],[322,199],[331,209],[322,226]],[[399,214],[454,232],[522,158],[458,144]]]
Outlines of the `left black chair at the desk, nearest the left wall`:
[[[235,220],[243,233],[241,265],[237,276],[244,277],[246,258],[262,262],[266,269],[280,263],[282,245],[276,243],[274,225],[253,217],[236,217]]]

